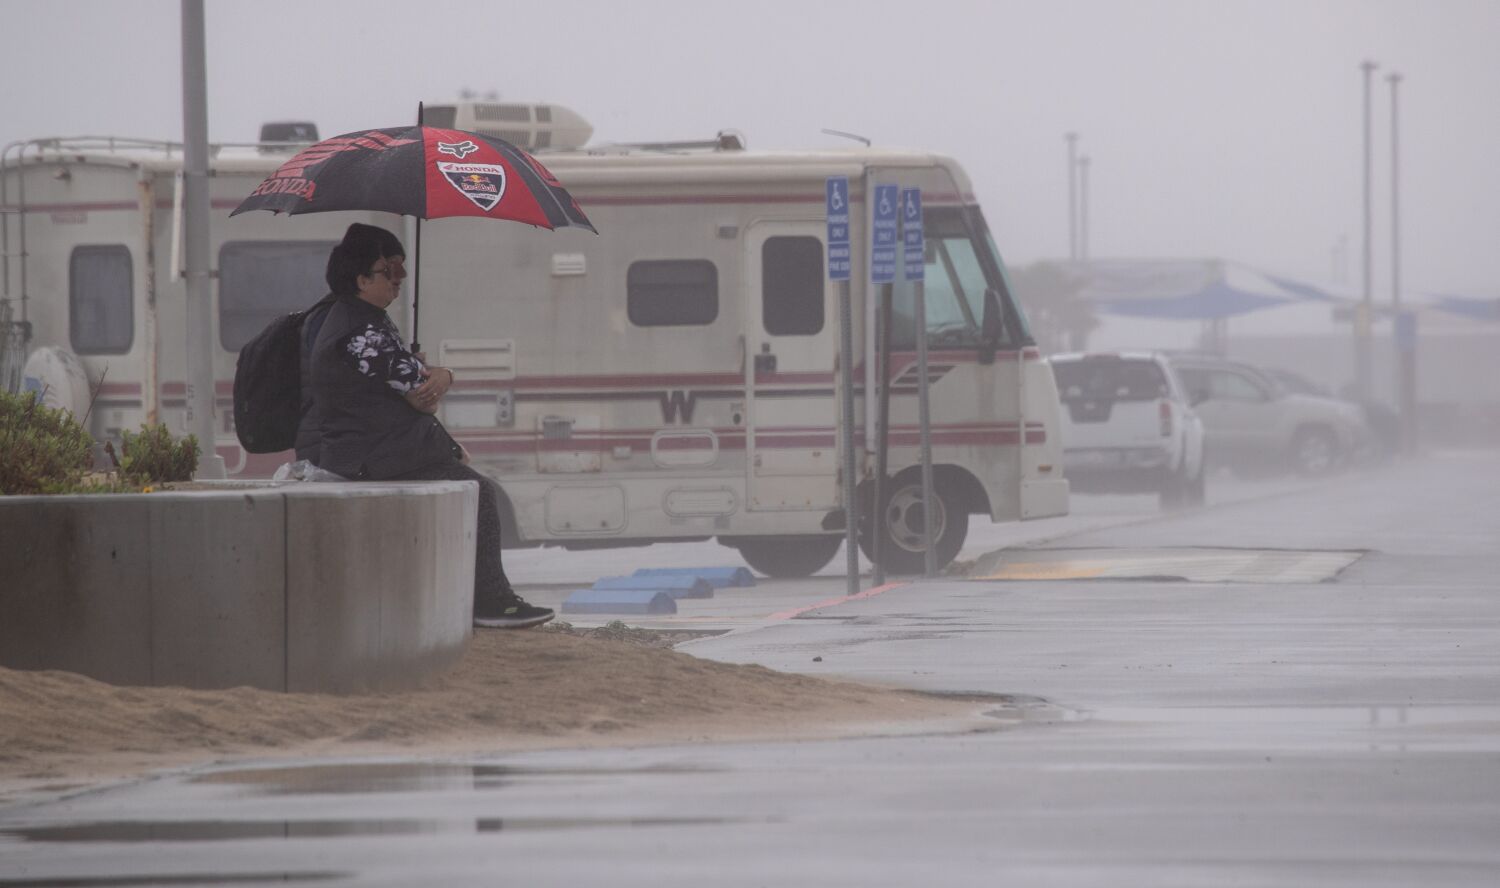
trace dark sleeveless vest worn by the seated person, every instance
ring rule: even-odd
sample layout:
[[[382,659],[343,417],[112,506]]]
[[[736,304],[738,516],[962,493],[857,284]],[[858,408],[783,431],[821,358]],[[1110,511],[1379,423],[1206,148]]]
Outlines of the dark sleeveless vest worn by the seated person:
[[[312,344],[304,382],[310,380],[318,423],[315,462],[346,478],[393,478],[456,460],[460,453],[436,417],[406,404],[384,381],[360,374],[345,352],[352,334],[384,315],[357,296],[339,297]]]

